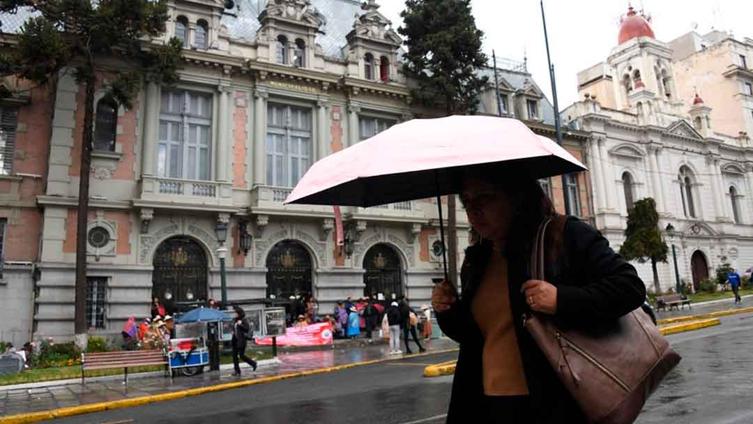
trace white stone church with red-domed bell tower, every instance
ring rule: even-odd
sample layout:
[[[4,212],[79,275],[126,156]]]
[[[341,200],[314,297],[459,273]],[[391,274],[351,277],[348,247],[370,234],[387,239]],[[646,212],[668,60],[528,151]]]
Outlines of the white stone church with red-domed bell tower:
[[[709,56],[712,47],[676,60],[673,44],[655,39],[648,20],[632,8],[618,42],[604,63],[578,75],[583,100],[562,112],[569,127],[590,133],[597,227],[619,247],[627,209],[653,197],[660,226],[672,224],[677,232],[665,239],[677,249],[679,277],[694,288],[721,264],[753,266],[753,145],[740,113],[745,99],[727,90],[736,82],[709,69],[747,71],[732,54]],[[708,63],[694,69],[698,55]],[[701,81],[706,85],[695,85]],[[637,266],[651,287],[651,265]],[[660,280],[662,291],[675,287],[671,250]]]

